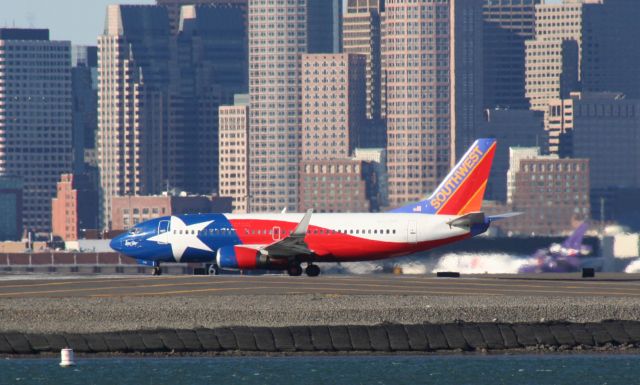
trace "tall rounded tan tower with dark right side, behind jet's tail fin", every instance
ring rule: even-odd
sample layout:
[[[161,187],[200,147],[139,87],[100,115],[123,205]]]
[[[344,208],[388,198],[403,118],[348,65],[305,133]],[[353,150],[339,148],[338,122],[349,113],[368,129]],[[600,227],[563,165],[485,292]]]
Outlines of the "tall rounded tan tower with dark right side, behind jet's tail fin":
[[[422,199],[482,117],[482,3],[385,5],[390,204]],[[452,24],[453,23],[453,24]]]

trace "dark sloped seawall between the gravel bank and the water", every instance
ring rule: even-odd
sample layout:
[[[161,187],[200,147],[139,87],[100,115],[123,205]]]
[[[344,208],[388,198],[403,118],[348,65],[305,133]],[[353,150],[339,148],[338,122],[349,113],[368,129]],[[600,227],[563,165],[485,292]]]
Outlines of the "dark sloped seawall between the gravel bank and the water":
[[[445,323],[158,329],[105,333],[0,333],[1,355],[57,353],[271,354],[627,350],[640,322]]]

